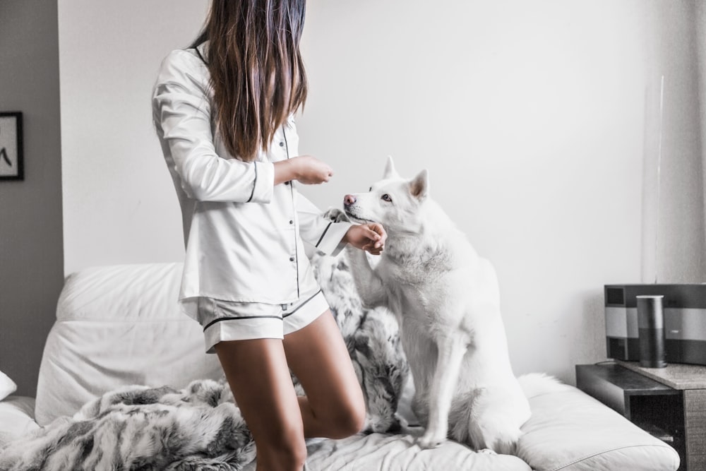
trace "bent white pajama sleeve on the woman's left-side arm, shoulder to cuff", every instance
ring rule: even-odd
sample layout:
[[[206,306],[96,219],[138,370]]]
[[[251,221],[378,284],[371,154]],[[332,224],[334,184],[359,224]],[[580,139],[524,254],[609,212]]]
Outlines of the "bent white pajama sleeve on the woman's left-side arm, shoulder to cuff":
[[[193,54],[174,51],[162,62],[152,94],[153,119],[181,187],[198,201],[269,203],[275,181],[272,163],[217,155],[209,89],[208,71]]]

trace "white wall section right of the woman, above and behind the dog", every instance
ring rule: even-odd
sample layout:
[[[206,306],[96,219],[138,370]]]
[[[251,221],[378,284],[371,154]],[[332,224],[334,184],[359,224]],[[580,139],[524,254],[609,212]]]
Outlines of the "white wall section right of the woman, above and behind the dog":
[[[317,4],[301,149],[339,177],[312,198],[340,204],[364,191],[387,154],[409,176],[429,168],[433,196],[496,264],[515,369],[573,378],[573,364],[605,355],[602,285],[640,282],[642,252],[655,252],[641,229],[657,71],[666,105],[653,263],[663,282],[704,279],[692,7]],[[649,203],[656,190],[645,186]]]

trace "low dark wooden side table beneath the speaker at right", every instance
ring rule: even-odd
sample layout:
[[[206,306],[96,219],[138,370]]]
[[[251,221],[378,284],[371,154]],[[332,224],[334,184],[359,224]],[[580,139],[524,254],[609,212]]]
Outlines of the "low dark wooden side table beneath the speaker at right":
[[[673,446],[679,470],[706,470],[706,366],[576,365],[576,386]]]

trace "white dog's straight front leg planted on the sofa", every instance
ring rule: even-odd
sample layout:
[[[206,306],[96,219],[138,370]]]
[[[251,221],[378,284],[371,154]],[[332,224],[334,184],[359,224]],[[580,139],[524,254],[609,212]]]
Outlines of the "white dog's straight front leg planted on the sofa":
[[[459,336],[441,338],[437,343],[436,371],[429,388],[429,421],[424,435],[419,439],[421,448],[434,448],[446,439],[451,401],[468,348],[465,339]]]

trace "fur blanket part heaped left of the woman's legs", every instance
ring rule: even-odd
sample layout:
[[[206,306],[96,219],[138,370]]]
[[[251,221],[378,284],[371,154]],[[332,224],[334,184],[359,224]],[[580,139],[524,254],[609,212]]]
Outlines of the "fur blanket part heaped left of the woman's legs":
[[[8,444],[0,469],[241,470],[255,458],[250,431],[223,382],[182,390],[128,386]]]

